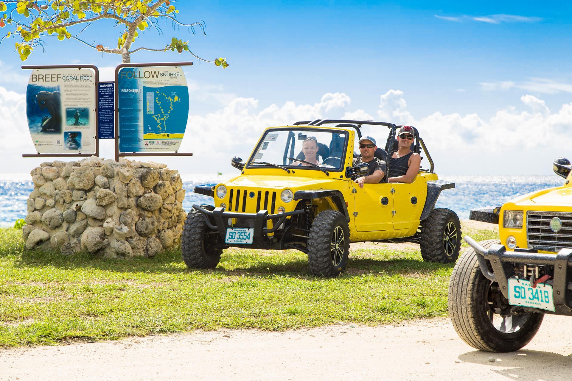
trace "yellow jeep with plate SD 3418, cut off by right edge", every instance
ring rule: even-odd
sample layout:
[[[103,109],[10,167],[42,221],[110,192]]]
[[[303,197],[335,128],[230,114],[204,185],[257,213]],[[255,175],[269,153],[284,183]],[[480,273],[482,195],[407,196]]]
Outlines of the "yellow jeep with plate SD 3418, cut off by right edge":
[[[453,326],[470,346],[517,351],[534,337],[544,314],[572,315],[572,168],[558,158],[566,182],[505,204],[471,210],[470,219],[498,223],[500,240],[475,242],[451,274]]]

